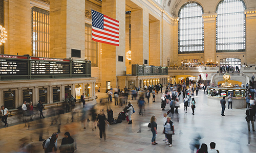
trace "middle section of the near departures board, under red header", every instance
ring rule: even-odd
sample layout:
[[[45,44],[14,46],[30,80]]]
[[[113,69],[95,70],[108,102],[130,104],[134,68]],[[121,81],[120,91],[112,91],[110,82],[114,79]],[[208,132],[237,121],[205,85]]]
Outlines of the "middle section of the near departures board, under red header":
[[[31,57],[31,75],[70,74],[70,60]]]

